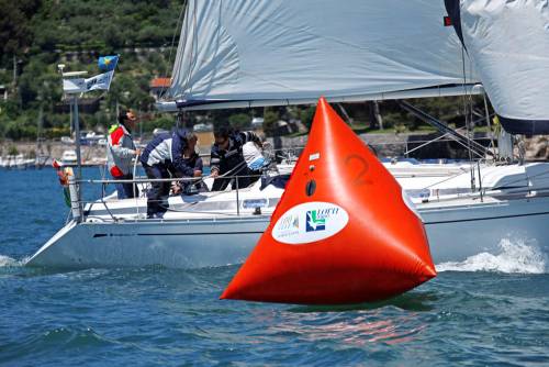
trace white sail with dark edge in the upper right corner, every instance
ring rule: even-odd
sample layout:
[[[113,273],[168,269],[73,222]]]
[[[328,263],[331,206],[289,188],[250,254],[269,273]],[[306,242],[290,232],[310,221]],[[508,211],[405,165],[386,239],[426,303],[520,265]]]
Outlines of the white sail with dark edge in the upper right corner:
[[[503,127],[549,134],[546,0],[445,0]]]

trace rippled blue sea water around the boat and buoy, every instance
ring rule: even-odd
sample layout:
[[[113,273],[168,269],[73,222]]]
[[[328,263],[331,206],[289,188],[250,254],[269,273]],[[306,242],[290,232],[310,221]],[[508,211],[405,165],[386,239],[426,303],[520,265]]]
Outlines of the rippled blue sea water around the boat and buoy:
[[[221,301],[237,266],[26,268],[68,208],[49,168],[0,171],[0,365],[549,365],[548,263],[528,243],[437,264],[382,303]]]

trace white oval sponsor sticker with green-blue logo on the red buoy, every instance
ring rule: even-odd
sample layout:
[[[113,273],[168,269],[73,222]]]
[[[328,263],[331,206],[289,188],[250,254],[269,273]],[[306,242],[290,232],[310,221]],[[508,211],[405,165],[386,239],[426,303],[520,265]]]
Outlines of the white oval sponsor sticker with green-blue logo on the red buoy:
[[[295,205],[279,218],[272,229],[278,242],[301,245],[332,237],[349,222],[349,214],[330,202],[306,202]]]

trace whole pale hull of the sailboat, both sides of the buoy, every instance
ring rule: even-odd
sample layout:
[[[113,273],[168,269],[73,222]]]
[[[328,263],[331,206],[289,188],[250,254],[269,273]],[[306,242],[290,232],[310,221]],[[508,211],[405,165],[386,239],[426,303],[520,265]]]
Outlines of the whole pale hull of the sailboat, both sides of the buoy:
[[[504,240],[534,241],[549,254],[549,198],[462,200],[419,205],[435,264],[461,262]],[[30,260],[33,266],[161,265],[201,268],[240,264],[269,224],[269,215],[216,220],[70,223]]]

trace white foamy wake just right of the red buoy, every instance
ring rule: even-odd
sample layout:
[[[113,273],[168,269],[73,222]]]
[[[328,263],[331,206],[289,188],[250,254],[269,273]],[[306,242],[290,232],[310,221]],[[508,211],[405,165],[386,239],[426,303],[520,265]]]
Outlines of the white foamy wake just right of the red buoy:
[[[536,241],[500,242],[497,255],[481,253],[464,262],[448,262],[436,266],[437,271],[498,271],[508,274],[545,274],[548,259]]]

